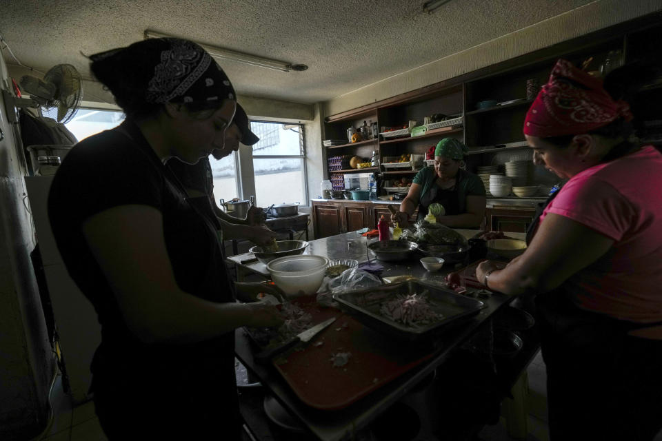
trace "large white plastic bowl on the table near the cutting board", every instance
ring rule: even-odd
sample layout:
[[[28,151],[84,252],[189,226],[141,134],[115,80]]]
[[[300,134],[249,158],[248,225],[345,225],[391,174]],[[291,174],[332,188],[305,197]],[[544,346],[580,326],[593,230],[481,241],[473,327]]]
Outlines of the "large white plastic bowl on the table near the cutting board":
[[[285,256],[267,264],[271,279],[285,296],[314,294],[322,285],[328,258],[323,256]]]

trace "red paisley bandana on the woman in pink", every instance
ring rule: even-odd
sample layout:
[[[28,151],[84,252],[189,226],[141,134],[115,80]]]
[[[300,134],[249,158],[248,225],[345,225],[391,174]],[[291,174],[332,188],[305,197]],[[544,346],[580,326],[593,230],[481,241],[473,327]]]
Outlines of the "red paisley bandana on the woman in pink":
[[[541,138],[583,134],[619,116],[632,119],[628,103],[614,101],[601,79],[559,60],[526,114],[524,134]]]

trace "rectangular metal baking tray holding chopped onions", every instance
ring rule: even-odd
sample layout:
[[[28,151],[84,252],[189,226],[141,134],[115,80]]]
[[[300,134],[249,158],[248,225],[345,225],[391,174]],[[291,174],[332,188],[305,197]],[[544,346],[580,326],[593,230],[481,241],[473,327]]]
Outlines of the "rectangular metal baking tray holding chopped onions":
[[[383,302],[391,300],[399,294],[421,294],[423,291],[427,291],[428,301],[432,305],[432,309],[443,315],[440,320],[428,325],[408,326],[380,314],[379,308]],[[480,300],[425,285],[418,280],[334,294],[333,298],[339,302],[343,311],[354,316],[363,325],[402,340],[422,340],[436,335],[443,327],[478,314],[485,307],[485,304]]]

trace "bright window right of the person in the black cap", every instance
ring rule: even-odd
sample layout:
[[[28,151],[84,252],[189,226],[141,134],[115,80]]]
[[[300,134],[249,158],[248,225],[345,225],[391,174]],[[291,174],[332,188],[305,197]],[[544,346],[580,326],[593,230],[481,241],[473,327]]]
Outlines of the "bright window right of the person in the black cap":
[[[303,126],[251,121],[250,130],[260,138],[252,151],[257,203],[307,205]]]

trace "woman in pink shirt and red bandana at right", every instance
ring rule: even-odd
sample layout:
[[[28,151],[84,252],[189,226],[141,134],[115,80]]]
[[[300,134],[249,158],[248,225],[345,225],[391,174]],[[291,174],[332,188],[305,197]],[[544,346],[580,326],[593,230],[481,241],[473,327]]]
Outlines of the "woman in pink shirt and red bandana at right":
[[[553,440],[652,440],[662,428],[662,155],[628,142],[625,101],[644,72],[603,83],[556,63],[524,134],[534,162],[568,182],[521,256],[476,271],[494,291],[537,294]]]

